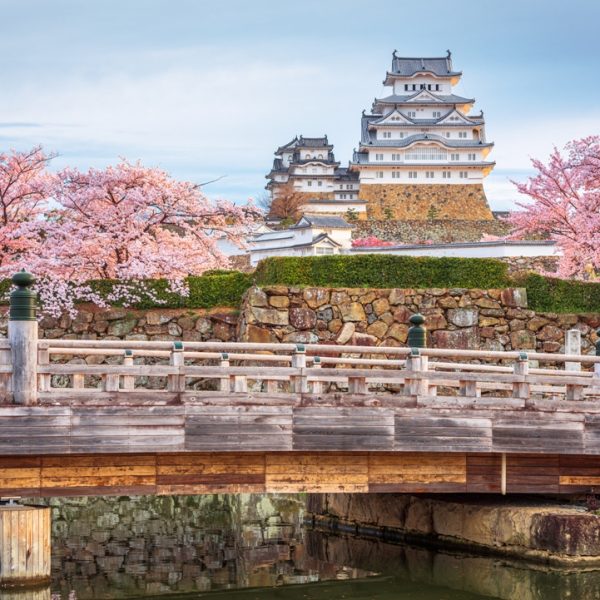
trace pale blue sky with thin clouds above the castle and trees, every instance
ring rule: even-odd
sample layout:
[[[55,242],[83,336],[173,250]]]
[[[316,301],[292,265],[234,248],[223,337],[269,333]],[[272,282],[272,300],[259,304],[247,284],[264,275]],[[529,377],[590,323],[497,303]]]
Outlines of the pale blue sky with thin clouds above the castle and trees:
[[[0,0],[0,15],[0,152],[42,144],[55,169],[125,157],[259,198],[296,134],[326,133],[347,164],[394,49],[452,51],[495,142],[495,210],[531,157],[600,134],[597,0]]]

